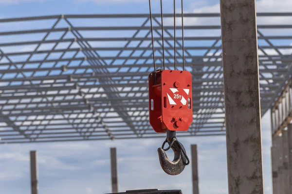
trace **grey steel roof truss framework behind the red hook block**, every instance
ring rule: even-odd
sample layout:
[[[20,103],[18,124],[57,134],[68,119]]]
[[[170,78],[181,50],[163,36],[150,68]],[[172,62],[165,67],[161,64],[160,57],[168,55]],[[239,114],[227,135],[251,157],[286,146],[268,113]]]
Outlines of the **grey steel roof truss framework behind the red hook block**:
[[[282,16],[292,13],[258,14],[262,115],[289,78],[292,25],[265,19]],[[164,17],[169,69],[174,29],[172,15]],[[194,122],[178,136],[225,135],[219,14],[184,17]],[[162,68],[160,23],[160,15],[153,15],[156,64]],[[1,144],[164,137],[148,123],[149,15],[7,18],[0,19],[0,26]],[[175,40],[178,66],[181,40]]]

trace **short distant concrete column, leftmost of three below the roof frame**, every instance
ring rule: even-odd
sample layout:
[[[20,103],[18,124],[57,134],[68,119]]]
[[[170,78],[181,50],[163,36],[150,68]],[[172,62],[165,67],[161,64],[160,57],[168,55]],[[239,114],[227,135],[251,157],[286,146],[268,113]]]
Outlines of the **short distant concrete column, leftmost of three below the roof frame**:
[[[38,176],[37,176],[37,151],[30,152],[31,166],[31,191],[32,194],[38,193]]]

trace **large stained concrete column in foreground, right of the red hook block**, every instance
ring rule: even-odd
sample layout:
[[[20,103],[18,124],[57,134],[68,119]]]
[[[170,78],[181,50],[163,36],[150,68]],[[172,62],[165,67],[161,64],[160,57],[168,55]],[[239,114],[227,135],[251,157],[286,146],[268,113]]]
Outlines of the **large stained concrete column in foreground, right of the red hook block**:
[[[229,194],[263,194],[255,0],[220,0]]]

